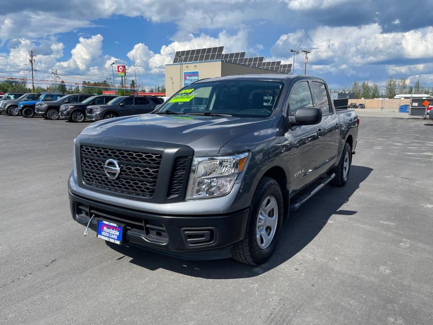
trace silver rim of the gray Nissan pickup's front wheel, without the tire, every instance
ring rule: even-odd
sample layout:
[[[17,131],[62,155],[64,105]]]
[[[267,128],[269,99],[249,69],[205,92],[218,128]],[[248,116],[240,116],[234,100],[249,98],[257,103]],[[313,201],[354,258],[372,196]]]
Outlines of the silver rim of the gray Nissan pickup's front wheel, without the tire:
[[[269,247],[275,236],[278,223],[278,202],[273,195],[268,195],[260,205],[257,216],[255,237],[261,249]]]

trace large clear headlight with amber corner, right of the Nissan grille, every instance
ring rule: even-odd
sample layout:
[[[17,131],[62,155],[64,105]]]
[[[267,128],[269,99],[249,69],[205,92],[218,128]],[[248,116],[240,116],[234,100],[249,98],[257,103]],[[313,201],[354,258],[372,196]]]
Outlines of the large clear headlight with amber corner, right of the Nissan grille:
[[[246,168],[248,153],[230,156],[194,157],[187,198],[209,198],[231,192],[236,178]]]

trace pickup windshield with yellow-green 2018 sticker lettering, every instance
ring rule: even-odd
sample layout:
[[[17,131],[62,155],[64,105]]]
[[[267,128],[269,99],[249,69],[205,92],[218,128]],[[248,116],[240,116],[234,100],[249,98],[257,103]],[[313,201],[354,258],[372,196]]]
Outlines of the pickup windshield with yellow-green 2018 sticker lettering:
[[[268,117],[283,84],[278,81],[209,81],[191,84],[165,103],[159,112]]]

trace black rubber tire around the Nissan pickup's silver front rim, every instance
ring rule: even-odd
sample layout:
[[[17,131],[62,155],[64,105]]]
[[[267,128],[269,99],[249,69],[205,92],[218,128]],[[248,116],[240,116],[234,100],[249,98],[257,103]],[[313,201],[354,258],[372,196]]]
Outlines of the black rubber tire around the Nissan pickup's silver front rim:
[[[269,197],[273,197],[277,203],[278,214],[276,216],[275,233],[273,234],[270,244],[265,247],[259,247],[259,240],[256,235],[259,234],[258,219],[261,207],[266,205]],[[269,211],[270,212],[270,211]],[[273,212],[275,216],[275,211]],[[275,250],[280,235],[281,223],[283,221],[283,194],[278,182],[269,177],[263,177],[254,192],[251,205],[249,207],[248,221],[246,224],[245,237],[243,240],[233,245],[232,257],[242,263],[250,265],[260,265],[265,263]],[[265,231],[267,232],[267,223]],[[262,228],[263,229],[263,228]]]

